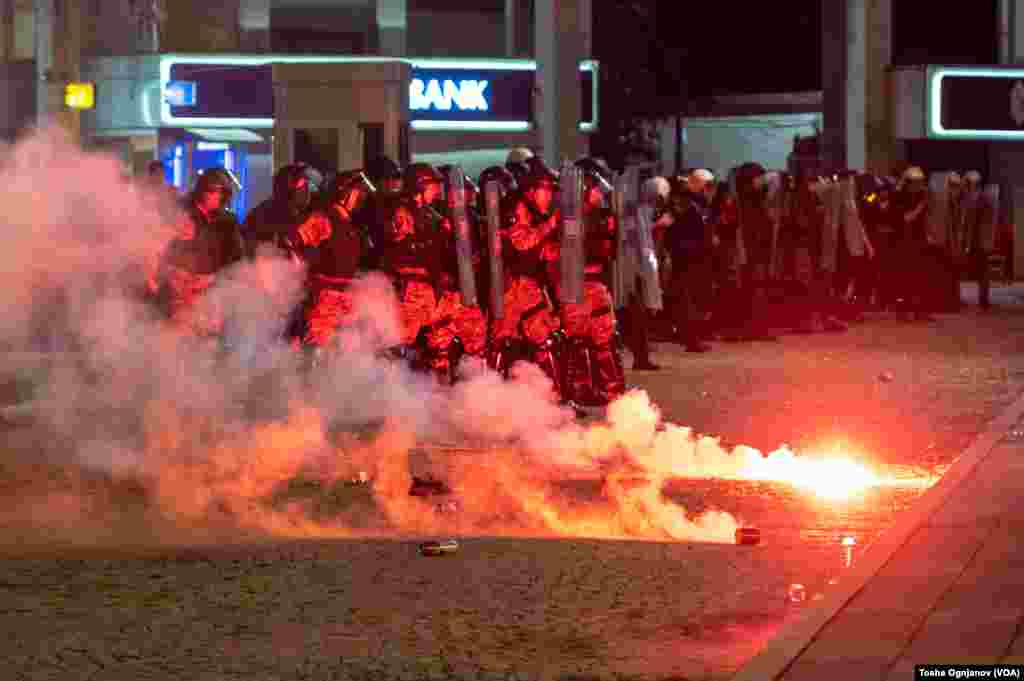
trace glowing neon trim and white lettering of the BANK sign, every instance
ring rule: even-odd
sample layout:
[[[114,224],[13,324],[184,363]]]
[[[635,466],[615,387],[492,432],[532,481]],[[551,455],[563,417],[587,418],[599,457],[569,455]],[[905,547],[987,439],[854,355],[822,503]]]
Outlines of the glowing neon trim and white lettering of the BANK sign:
[[[211,54],[163,54],[160,56],[160,91],[165,96],[160,101],[161,124],[167,127],[207,127],[207,128],[272,128],[272,118],[208,118],[174,116],[171,113],[171,102],[168,101],[166,93],[171,81],[171,68],[175,63],[209,65],[209,66],[265,66],[268,63],[393,63],[404,62],[414,69],[423,70],[463,70],[463,71],[537,71],[537,61],[532,59],[401,59],[394,57],[374,57],[374,56],[307,56],[289,54],[264,54],[264,55],[211,55]],[[580,63],[581,72],[588,72],[593,75],[593,87],[591,89],[591,102],[594,112],[593,120],[580,123],[580,129],[584,132],[592,132],[598,125],[598,65],[597,61],[588,59]],[[465,92],[463,86],[468,83]],[[481,83],[483,85],[481,85]],[[488,81],[453,81],[454,89],[445,91],[445,82],[438,84],[440,96],[429,96],[430,84],[424,83],[423,96],[430,100],[430,105],[436,111],[451,111],[451,109],[437,108],[437,104],[444,104],[446,97],[451,95],[451,101],[458,108],[465,105],[461,111],[489,111],[487,101]],[[458,94],[456,94],[456,90]],[[413,104],[423,105],[423,101],[414,102],[412,100],[412,85],[410,87],[410,109],[411,111],[428,111],[428,109],[416,109]],[[482,107],[481,107],[482,104]],[[475,105],[476,109],[468,107]],[[435,121],[435,120],[413,120],[410,123],[413,130],[467,130],[480,132],[527,132],[532,130],[534,124],[530,121]]]

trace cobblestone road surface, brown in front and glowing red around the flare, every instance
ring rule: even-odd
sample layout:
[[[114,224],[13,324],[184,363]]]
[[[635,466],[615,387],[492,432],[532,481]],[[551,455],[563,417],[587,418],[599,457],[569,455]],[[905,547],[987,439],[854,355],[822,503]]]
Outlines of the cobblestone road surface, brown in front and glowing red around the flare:
[[[1024,310],[1017,290],[996,292],[999,310],[934,325],[878,320],[699,356],[662,345],[665,371],[630,379],[667,419],[737,443],[842,440],[879,465],[942,470],[1024,388]],[[385,540],[166,549],[147,544],[137,499],[114,516],[76,507],[74,523],[41,526],[29,495],[52,504],[82,478],[34,460],[44,434],[11,431],[7,443],[0,658],[13,679],[725,679],[800,616],[783,603],[791,583],[823,585],[839,568],[837,533],[859,522],[869,541],[913,501],[838,508],[771,485],[666,488],[687,509],[761,526],[758,547],[479,538],[441,558]],[[90,485],[108,501],[121,494]],[[119,546],[125,537],[137,547]]]

